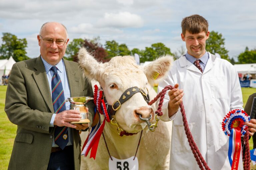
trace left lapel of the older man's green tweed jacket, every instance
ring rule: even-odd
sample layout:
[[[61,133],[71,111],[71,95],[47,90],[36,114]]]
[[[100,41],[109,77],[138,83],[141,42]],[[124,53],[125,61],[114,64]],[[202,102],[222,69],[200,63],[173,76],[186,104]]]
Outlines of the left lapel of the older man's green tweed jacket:
[[[46,76],[44,63],[41,59],[41,55],[37,58],[34,68],[36,71],[33,73],[34,79],[36,84],[46,102],[47,106],[49,107],[50,111],[54,113],[53,105],[52,105],[52,97],[51,91],[48,84],[48,79]],[[40,104],[40,103],[39,103]]]

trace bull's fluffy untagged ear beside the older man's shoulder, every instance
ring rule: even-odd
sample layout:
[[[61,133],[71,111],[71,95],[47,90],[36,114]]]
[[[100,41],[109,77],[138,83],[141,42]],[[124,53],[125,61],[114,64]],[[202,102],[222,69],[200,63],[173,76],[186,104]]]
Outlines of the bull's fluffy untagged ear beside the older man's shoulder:
[[[90,80],[99,81],[104,72],[103,64],[99,63],[93,56],[91,56],[84,47],[81,47],[78,52],[78,63],[84,70],[85,77]]]

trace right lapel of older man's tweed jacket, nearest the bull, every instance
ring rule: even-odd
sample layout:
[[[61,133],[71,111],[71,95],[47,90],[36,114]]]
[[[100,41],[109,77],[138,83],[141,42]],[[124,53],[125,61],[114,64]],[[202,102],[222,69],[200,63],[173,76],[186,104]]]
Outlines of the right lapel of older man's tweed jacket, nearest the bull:
[[[79,97],[79,76],[77,72],[79,70],[78,65],[72,65],[69,61],[64,59],[65,69],[68,77],[70,97]]]

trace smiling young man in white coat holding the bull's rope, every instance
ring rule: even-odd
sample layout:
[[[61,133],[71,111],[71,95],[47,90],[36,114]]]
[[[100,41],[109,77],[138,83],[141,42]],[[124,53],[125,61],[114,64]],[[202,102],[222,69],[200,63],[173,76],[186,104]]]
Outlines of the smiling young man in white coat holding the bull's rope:
[[[227,60],[205,50],[210,32],[202,16],[184,18],[181,27],[187,53],[174,61],[158,86],[158,92],[166,85],[175,87],[166,93],[162,106],[162,120],[173,120],[170,169],[199,169],[185,134],[179,110],[182,101],[190,131],[208,166],[230,169],[228,136],[221,123],[229,111],[243,109],[237,71]],[[256,131],[255,123],[256,120],[247,123],[250,135]]]

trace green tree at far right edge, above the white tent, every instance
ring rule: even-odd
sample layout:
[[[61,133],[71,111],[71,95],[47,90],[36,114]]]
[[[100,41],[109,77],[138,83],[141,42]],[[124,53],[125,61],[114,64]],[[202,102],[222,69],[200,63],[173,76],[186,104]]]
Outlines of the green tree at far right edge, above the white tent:
[[[256,63],[256,49],[249,50],[248,47],[246,47],[245,51],[239,54],[238,63],[239,64]]]

